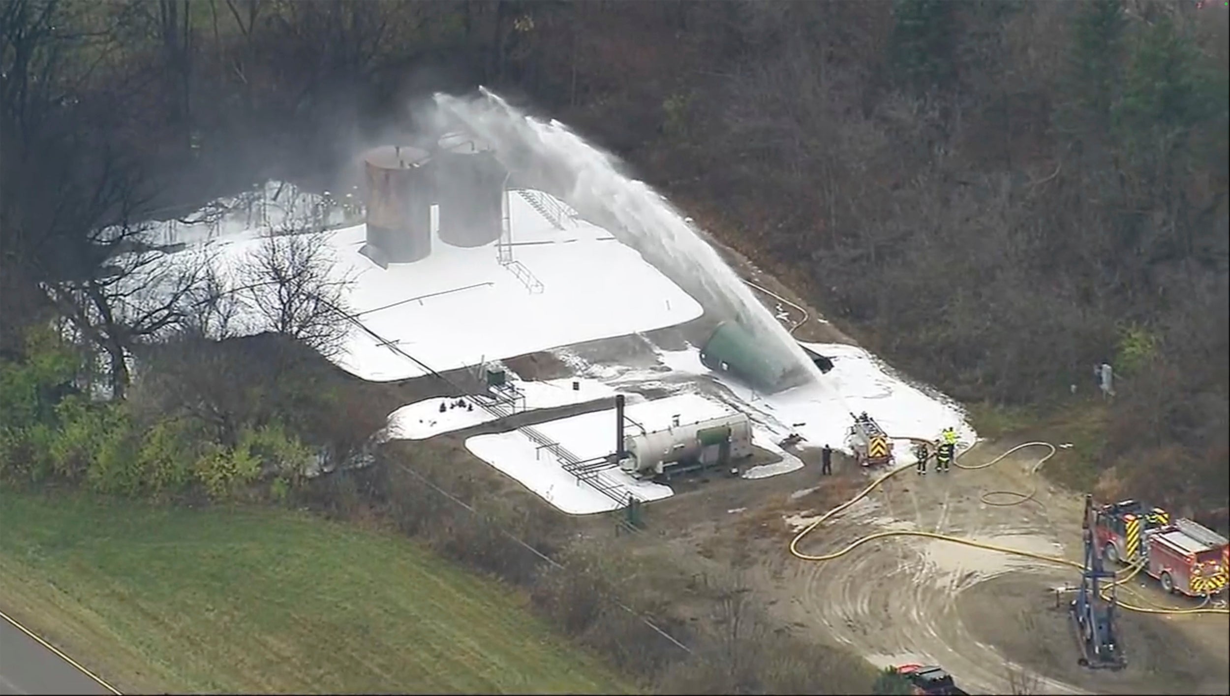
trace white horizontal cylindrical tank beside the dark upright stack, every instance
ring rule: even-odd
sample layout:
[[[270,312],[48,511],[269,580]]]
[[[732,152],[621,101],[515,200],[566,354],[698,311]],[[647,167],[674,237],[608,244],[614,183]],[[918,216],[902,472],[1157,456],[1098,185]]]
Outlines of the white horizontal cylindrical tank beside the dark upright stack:
[[[752,422],[745,413],[729,413],[662,430],[626,435],[621,462],[625,471],[651,477],[681,462],[716,465],[752,455]]]

